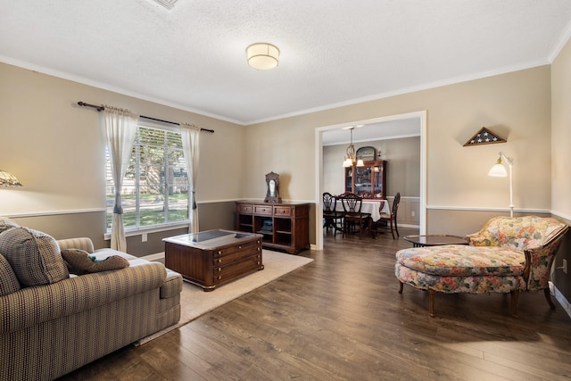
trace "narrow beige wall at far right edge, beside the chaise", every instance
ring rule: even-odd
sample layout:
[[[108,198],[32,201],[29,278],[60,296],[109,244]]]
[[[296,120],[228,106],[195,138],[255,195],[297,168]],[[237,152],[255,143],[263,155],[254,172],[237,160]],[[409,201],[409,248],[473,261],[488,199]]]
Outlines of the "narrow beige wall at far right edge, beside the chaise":
[[[563,47],[551,65],[551,211],[571,224],[571,42]],[[567,260],[569,271],[554,273],[559,291],[571,302],[571,234],[562,245],[555,266]]]

